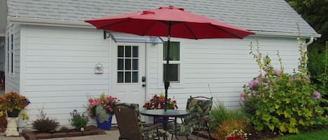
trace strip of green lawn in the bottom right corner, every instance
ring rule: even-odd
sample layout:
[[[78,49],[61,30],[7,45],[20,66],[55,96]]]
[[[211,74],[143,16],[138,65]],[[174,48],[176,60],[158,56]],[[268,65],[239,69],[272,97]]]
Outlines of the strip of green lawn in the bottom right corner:
[[[315,132],[308,132],[304,134],[290,134],[284,137],[267,140],[328,140],[328,129],[317,130]]]

